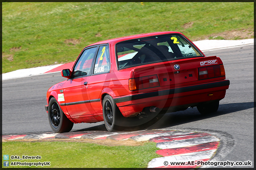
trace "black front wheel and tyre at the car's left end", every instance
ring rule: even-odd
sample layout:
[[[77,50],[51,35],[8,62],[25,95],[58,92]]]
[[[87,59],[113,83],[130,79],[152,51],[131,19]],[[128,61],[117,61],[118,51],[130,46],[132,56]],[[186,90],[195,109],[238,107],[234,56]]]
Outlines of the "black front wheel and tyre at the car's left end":
[[[63,113],[54,97],[49,101],[48,119],[50,126],[55,133],[69,132],[74,125],[74,123],[71,122]]]

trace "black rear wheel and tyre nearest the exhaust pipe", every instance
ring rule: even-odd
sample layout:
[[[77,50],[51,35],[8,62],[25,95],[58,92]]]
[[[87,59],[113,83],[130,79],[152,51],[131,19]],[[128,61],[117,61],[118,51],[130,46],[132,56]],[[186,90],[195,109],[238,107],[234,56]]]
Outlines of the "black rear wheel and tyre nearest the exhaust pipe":
[[[117,123],[121,119],[122,113],[119,111],[113,98],[106,95],[102,103],[103,119],[106,129],[110,132],[122,130],[122,126],[118,126]]]

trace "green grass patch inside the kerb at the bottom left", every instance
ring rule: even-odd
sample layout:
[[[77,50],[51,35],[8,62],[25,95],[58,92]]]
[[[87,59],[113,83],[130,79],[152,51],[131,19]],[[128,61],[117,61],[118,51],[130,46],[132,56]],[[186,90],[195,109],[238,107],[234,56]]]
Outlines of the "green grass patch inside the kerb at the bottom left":
[[[43,168],[146,168],[157,157],[156,143],[143,146],[104,146],[78,142],[3,142],[2,156],[11,162],[50,162]],[[11,160],[11,155],[41,156],[38,160]],[[4,166],[2,165],[2,168]],[[36,166],[9,166],[10,168],[36,168]],[[42,166],[37,166],[42,168]]]

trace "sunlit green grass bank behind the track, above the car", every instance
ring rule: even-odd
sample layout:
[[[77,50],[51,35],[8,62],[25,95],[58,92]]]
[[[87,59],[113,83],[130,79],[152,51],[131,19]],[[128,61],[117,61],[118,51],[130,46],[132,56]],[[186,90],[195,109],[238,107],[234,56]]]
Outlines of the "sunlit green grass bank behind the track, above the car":
[[[3,2],[2,72],[72,62],[85,46],[119,36],[179,31],[193,40],[229,30],[254,30],[253,2],[143,4]]]

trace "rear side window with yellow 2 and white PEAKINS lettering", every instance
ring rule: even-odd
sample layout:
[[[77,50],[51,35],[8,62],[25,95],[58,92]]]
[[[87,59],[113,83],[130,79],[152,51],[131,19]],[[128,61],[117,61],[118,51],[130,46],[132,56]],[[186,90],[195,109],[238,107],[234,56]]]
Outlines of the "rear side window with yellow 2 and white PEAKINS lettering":
[[[110,57],[108,46],[100,46],[94,65],[94,74],[110,72]]]

